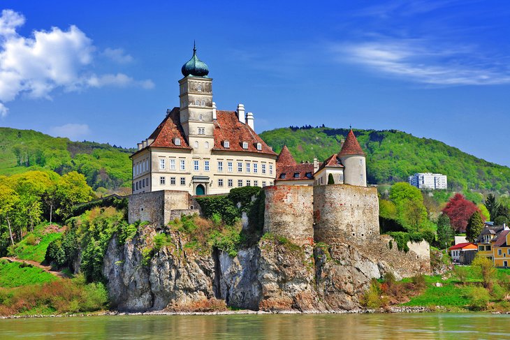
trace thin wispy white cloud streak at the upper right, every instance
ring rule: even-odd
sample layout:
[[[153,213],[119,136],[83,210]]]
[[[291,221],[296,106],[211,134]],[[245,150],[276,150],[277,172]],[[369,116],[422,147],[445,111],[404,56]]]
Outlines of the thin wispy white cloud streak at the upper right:
[[[381,38],[370,43],[333,45],[333,52],[338,61],[425,84],[510,84],[510,72],[501,58],[496,61],[469,46],[444,47],[423,39]]]

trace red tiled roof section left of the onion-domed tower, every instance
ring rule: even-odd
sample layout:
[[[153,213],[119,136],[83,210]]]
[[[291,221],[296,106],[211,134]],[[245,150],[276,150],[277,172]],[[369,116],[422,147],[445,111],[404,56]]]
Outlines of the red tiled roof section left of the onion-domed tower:
[[[184,138],[184,131],[180,124],[179,108],[173,108],[173,110],[167,114],[165,119],[161,121],[161,124],[159,124],[149,138],[154,139],[154,142],[152,142],[150,147],[191,149],[186,138]],[[181,145],[175,145],[173,138],[180,138]]]

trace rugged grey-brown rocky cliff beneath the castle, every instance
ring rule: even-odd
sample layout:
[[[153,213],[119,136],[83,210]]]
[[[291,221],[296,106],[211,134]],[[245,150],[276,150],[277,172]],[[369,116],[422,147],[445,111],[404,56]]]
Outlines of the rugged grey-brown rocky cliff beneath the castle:
[[[194,249],[186,235],[166,230],[169,244],[154,248],[156,230],[140,229],[119,244],[113,237],[103,263],[112,306],[120,311],[212,311],[227,306],[263,311],[337,311],[360,307],[372,278],[421,270],[414,251],[388,242],[293,244],[266,234],[236,256]],[[386,260],[380,260],[385,258]],[[407,259],[407,260],[406,260]],[[393,261],[394,260],[394,261]],[[392,266],[391,262],[408,261]]]

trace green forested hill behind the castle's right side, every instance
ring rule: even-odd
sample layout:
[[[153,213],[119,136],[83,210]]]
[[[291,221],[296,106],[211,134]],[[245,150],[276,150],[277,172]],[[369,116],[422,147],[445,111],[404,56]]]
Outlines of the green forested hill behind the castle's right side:
[[[296,161],[323,161],[340,151],[345,128],[278,128],[261,133],[261,138],[279,152],[284,145]],[[407,181],[415,172],[448,175],[449,189],[464,191],[510,191],[510,168],[466,154],[456,147],[428,138],[416,138],[402,131],[354,131],[367,153],[367,179],[371,184]]]

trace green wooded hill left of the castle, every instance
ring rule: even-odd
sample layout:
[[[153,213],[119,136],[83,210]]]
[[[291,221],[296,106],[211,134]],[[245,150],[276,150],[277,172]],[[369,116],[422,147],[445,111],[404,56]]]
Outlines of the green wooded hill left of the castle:
[[[28,170],[52,170],[60,175],[76,170],[93,189],[131,187],[133,149],[96,142],[71,142],[33,130],[0,128],[0,175]]]

